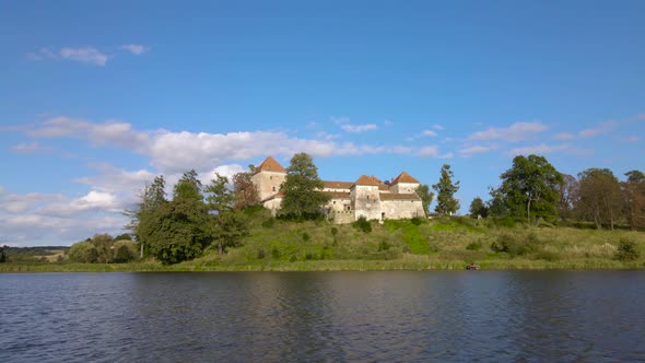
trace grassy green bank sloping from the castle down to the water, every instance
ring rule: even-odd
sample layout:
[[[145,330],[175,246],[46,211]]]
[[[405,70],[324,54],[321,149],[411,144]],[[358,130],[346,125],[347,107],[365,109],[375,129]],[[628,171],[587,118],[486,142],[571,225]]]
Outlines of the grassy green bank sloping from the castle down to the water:
[[[365,232],[371,230],[371,232]],[[637,258],[617,258],[629,241]],[[458,269],[643,269],[645,233],[574,227],[499,226],[453,218],[333,225],[251,219],[250,234],[220,259],[215,250],[178,265],[0,264],[0,271],[328,271]]]

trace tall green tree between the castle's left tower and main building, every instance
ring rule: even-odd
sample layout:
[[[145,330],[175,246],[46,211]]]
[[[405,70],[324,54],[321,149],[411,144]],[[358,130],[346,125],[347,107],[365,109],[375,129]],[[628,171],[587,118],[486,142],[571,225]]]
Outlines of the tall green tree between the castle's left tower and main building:
[[[312,156],[304,152],[293,155],[280,186],[284,194],[280,213],[295,219],[315,218],[330,199],[319,191],[322,186]]]

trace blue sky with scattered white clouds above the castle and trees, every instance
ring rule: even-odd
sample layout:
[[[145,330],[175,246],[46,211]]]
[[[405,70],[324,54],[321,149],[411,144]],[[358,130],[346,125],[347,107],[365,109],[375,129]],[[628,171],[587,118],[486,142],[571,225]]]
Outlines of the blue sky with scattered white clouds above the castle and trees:
[[[154,175],[273,155],[435,184],[645,169],[643,1],[4,1],[0,244],[120,233]]]

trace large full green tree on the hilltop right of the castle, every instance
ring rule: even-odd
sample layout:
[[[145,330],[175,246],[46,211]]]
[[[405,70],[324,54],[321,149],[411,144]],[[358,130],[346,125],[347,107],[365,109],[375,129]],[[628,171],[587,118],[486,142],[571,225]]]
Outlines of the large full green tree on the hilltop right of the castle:
[[[556,219],[559,190],[564,182],[544,156],[515,156],[513,166],[500,177],[500,191],[513,216],[526,216],[529,224],[531,219]]]

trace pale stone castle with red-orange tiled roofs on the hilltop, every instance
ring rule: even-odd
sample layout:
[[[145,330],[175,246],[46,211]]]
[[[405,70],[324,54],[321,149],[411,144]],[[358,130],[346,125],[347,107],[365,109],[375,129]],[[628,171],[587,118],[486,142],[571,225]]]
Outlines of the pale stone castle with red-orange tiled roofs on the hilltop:
[[[273,214],[280,210],[283,195],[280,185],[286,169],[269,156],[254,171],[251,180],[265,208]],[[423,203],[415,190],[419,180],[402,172],[390,183],[362,175],[355,182],[322,182],[322,192],[331,197],[325,212],[335,223],[351,223],[361,216],[366,220],[400,220],[425,218]]]

